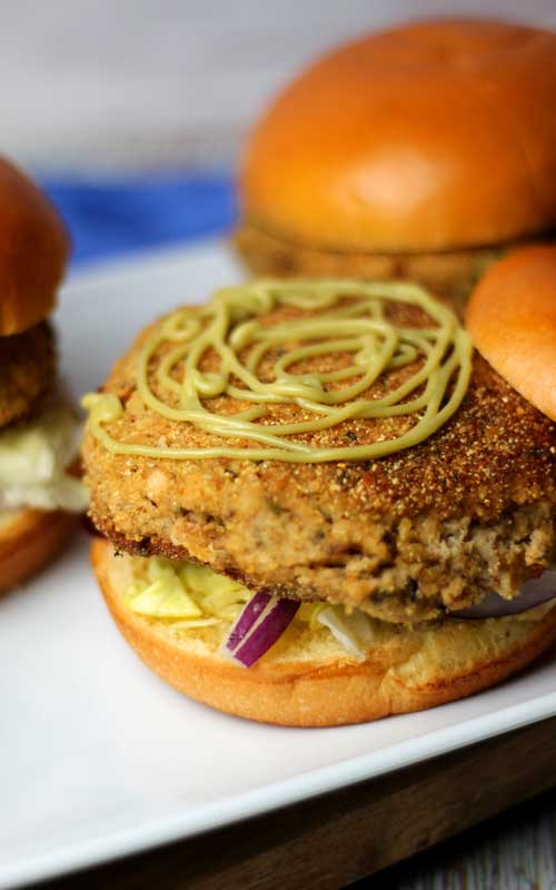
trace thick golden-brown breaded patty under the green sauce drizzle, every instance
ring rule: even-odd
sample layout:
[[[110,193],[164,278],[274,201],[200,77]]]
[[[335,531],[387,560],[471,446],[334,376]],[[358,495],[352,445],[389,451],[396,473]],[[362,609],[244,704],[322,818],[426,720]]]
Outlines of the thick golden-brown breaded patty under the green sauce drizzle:
[[[399,305],[393,313],[397,324],[409,317],[419,324],[415,307]],[[262,323],[291,315],[310,312],[275,310]],[[138,338],[105,386],[123,405],[107,431],[129,444],[221,444],[215,434],[146,406],[137,365],[152,330]],[[155,393],[165,348],[148,368]],[[322,370],[325,360],[329,370],[348,359],[341,354],[307,359],[297,373]],[[214,363],[207,354],[203,369]],[[260,378],[269,373],[262,363]],[[376,395],[405,373],[380,379]],[[210,402],[221,414],[238,409],[229,395]],[[272,406],[267,423],[301,415],[292,404]],[[325,447],[366,444],[403,433],[407,423],[403,416],[351,419],[307,433],[304,441]],[[376,461],[160,459],[115,454],[91,434],[83,454],[91,517],[118,546],[199,562],[252,591],[418,622],[478,602],[493,590],[517,595],[525,578],[554,560],[556,425],[478,355],[451,419],[420,445]]]

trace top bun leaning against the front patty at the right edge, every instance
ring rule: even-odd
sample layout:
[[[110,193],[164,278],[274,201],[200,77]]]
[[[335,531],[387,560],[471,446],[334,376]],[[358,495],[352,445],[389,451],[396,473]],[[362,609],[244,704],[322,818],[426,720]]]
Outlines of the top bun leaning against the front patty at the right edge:
[[[466,327],[495,370],[556,421],[556,247],[524,247],[492,266]]]

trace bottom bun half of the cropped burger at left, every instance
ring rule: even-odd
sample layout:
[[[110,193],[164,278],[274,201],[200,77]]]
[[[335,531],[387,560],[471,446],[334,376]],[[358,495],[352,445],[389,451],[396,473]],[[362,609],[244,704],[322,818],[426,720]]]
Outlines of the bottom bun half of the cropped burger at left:
[[[63,511],[21,510],[0,524],[0,593],[21,584],[53,560],[76,517]]]

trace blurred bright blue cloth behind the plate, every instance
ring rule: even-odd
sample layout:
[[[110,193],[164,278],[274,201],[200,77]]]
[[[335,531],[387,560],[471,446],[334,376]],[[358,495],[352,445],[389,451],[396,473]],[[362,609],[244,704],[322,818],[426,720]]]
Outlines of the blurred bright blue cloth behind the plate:
[[[219,235],[236,219],[234,181],[226,174],[39,181],[71,233],[75,265]]]

